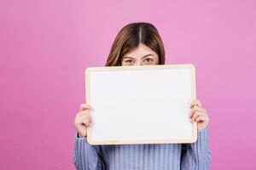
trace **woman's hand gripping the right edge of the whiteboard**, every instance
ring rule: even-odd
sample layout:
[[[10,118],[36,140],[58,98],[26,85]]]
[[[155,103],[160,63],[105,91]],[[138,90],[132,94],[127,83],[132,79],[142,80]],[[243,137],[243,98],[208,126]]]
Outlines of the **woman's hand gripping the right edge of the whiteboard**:
[[[197,122],[198,130],[203,130],[207,127],[210,119],[207,114],[207,110],[201,106],[201,102],[199,99],[195,99],[192,101],[190,105],[190,114],[189,118],[191,122]]]

